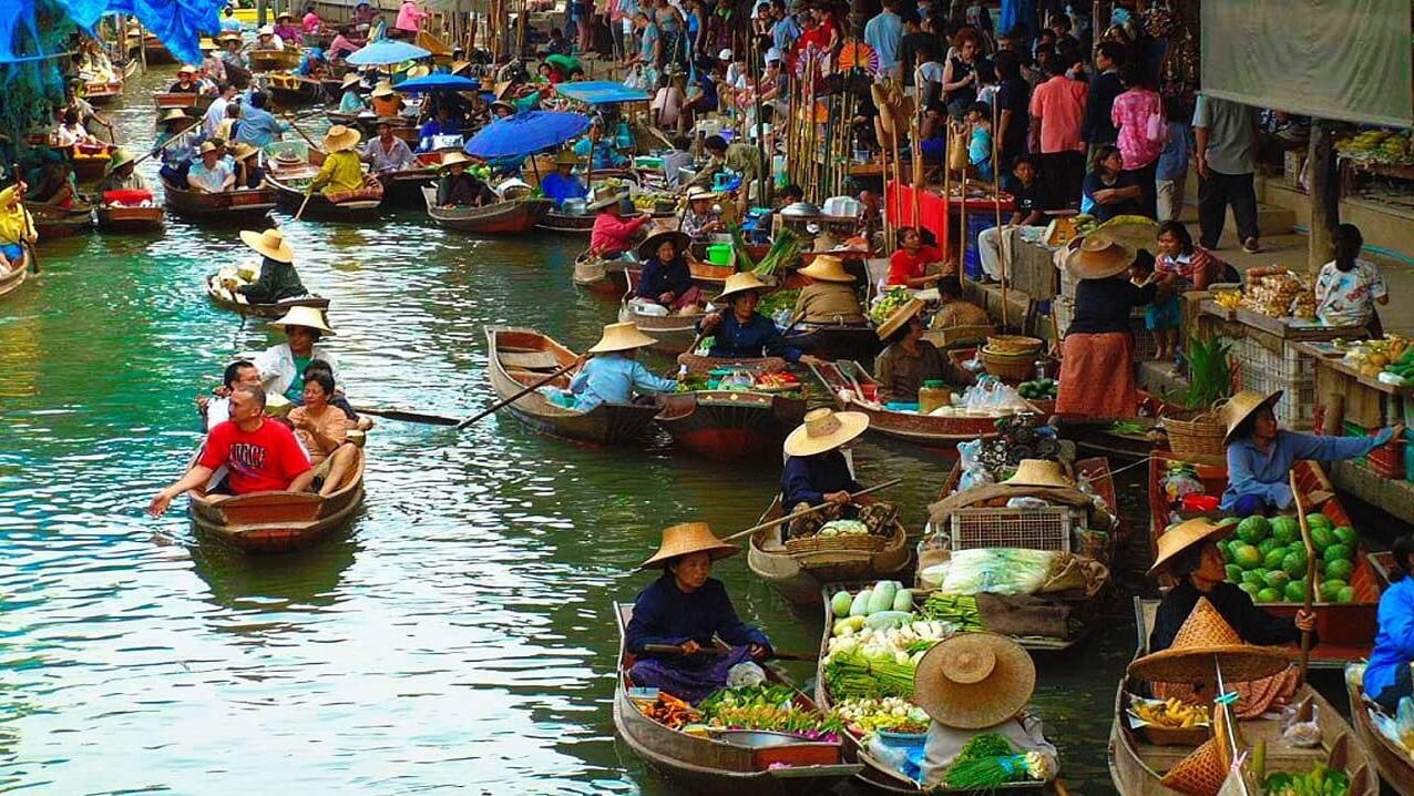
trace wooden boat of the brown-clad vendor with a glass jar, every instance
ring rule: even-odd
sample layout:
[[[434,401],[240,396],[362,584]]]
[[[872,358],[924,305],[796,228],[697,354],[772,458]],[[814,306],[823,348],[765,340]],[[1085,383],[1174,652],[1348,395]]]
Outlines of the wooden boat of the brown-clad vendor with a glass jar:
[[[848,372],[846,372],[846,369]],[[877,396],[878,382],[858,362],[812,363],[810,370],[829,387],[836,406],[870,416],[870,433],[892,437],[925,448],[947,450],[976,438],[998,434],[997,421],[1017,413],[995,416],[937,416],[915,411],[894,411],[872,402],[861,402],[860,394]],[[848,394],[844,393],[848,390]]]

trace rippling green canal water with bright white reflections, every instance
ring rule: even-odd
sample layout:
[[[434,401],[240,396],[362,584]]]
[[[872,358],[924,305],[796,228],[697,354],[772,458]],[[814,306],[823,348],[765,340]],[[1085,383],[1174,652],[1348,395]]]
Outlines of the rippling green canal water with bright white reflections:
[[[151,140],[146,92],[168,75],[109,110],[126,140]],[[141,170],[156,184],[153,161]],[[279,221],[304,283],[332,300],[328,342],[356,403],[469,416],[493,400],[484,324],[583,351],[614,320],[570,283],[583,240],[479,240],[417,213]],[[194,397],[233,353],[279,339],[204,297],[205,274],[246,256],[235,230],[170,219],[161,236],[40,254],[0,304],[0,790],[676,792],[615,741],[611,604],[649,583],[635,566],[662,527],[752,525],[778,461],[715,465],[666,440],[595,450],[506,416],[465,431],[380,421],[348,533],[232,554],[194,537],[184,501],[163,519],[144,509],[199,440]],[[915,529],[950,467],[870,441],[855,458],[865,484],[905,478],[891,498]],[[1143,544],[1143,469],[1121,482]],[[1130,551],[1121,584],[1144,583],[1144,558]],[[822,619],[792,614],[744,556],[714,574],[781,649],[819,643]],[[1038,657],[1035,701],[1073,793],[1111,792],[1128,599],[1077,650]]]

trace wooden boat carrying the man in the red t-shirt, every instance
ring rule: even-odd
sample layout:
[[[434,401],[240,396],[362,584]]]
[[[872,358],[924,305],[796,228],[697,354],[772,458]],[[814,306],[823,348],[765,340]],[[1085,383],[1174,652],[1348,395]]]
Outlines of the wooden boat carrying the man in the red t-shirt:
[[[246,553],[308,547],[345,526],[363,502],[363,450],[344,484],[328,496],[314,492],[208,495],[192,491],[187,505],[197,530]]]

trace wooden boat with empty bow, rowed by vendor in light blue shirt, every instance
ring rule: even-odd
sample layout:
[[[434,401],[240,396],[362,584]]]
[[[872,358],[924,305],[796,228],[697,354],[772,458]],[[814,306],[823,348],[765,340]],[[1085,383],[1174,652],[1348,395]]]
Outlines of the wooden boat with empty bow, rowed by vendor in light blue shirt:
[[[486,327],[491,361],[486,376],[498,400],[506,400],[550,373],[574,362],[575,353],[534,329]],[[568,376],[553,386],[567,387]],[[506,410],[536,431],[602,445],[641,438],[658,414],[658,404],[601,403],[590,411],[556,406],[537,390],[512,402]]]

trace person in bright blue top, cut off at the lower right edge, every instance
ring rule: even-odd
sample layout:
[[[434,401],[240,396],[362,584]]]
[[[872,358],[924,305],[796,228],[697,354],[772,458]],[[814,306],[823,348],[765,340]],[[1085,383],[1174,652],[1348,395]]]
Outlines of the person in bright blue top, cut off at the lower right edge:
[[[1365,694],[1396,715],[1400,700],[1414,697],[1410,665],[1414,663],[1414,536],[1394,540],[1394,583],[1380,595],[1377,631],[1370,662],[1365,666]]]

